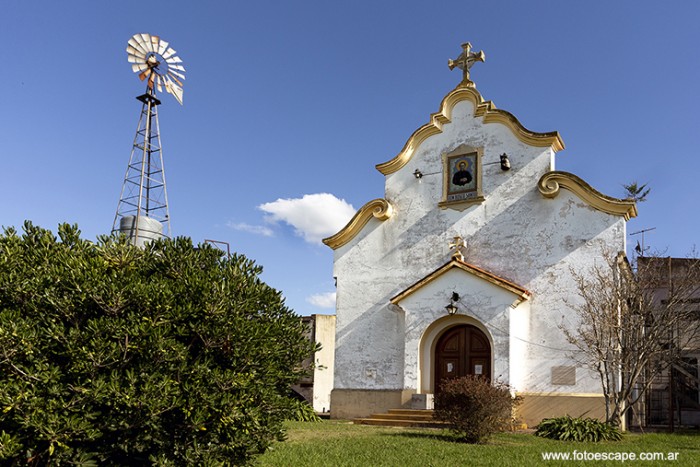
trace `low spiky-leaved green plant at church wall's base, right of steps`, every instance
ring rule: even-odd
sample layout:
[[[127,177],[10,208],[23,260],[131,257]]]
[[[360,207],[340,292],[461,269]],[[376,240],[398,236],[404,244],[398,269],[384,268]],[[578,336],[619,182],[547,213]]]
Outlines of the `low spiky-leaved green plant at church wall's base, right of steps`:
[[[620,430],[609,423],[593,418],[570,416],[545,418],[540,422],[535,435],[562,441],[619,441]]]

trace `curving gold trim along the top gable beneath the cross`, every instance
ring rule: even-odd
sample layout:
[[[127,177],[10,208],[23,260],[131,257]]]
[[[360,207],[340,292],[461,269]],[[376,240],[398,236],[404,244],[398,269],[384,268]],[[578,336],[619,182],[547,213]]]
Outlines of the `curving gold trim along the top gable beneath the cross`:
[[[537,147],[551,147],[555,152],[564,149],[564,141],[559,136],[559,132],[536,133],[530,131],[510,112],[496,109],[496,106],[491,101],[484,101],[476,89],[457,86],[442,100],[440,111],[430,115],[430,122],[413,132],[396,157],[382,164],[377,164],[377,170],[384,175],[389,175],[406,165],[423,141],[430,136],[442,133],[442,125],[449,123],[452,119],[452,109],[457,103],[464,100],[474,104],[474,116],[483,116],[484,123],[501,123],[507,126],[525,144]]]

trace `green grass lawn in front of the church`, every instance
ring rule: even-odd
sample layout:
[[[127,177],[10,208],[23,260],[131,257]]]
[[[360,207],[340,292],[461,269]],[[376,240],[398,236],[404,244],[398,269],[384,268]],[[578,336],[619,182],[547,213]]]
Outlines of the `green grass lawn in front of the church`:
[[[622,441],[574,443],[527,433],[500,433],[483,445],[455,442],[449,432],[427,428],[353,425],[330,420],[290,422],[287,441],[258,458],[261,466],[519,466],[519,465],[700,465],[700,432],[626,434]],[[588,456],[677,453],[677,460],[543,460],[547,452]]]

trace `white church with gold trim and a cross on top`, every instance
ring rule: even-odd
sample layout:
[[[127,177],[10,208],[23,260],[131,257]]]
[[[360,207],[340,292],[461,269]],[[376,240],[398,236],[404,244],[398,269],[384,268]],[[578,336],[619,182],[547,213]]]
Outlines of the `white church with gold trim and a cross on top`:
[[[376,168],[385,195],[337,234],[331,415],[430,408],[443,378],[484,375],[523,397],[528,425],[604,415],[597,376],[571,358],[572,270],[625,251],[631,200],[555,170],[557,132],[526,129],[469,72],[401,152]]]

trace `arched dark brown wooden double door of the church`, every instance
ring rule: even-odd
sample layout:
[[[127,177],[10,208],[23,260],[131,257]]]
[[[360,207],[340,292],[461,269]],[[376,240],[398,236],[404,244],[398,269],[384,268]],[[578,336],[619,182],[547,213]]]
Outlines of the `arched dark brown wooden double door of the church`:
[[[460,324],[447,329],[435,346],[435,393],[443,379],[467,375],[491,378],[491,345],[477,327]]]

